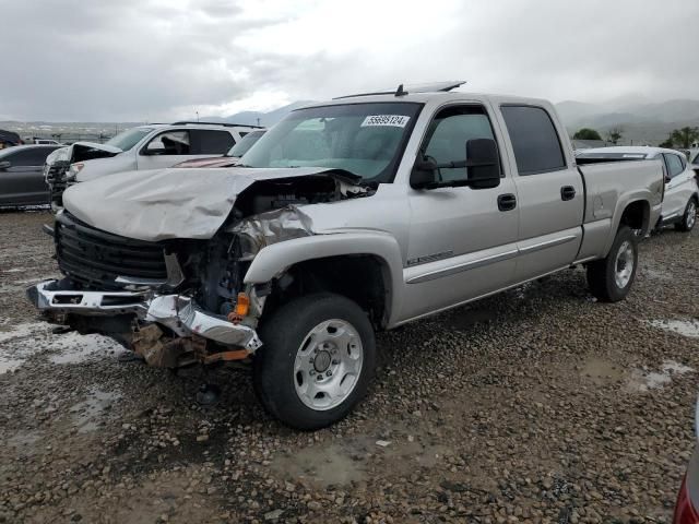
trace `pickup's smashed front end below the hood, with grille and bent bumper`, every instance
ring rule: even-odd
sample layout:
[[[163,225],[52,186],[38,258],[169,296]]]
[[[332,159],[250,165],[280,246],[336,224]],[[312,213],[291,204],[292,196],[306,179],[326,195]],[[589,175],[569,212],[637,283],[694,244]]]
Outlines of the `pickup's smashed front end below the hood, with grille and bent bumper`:
[[[54,239],[66,276],[27,297],[47,320],[112,336],[152,366],[246,359],[262,345],[268,297],[284,285],[246,284],[250,264],[265,246],[313,235],[303,205],[367,193],[350,186],[333,177],[256,182],[208,240],[126,238],[60,211]]]

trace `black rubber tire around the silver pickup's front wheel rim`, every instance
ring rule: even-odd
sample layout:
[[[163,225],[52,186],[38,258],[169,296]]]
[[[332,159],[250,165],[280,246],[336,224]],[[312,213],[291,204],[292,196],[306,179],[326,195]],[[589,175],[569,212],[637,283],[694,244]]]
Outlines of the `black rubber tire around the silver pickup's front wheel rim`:
[[[360,371],[339,405],[313,409],[297,393],[294,366],[311,330],[332,319],[351,324],[358,334],[363,348]],[[375,372],[376,342],[367,314],[352,300],[329,293],[297,298],[273,312],[259,331],[263,345],[252,362],[254,391],[268,413],[283,424],[300,430],[330,426],[344,418],[366,394]]]

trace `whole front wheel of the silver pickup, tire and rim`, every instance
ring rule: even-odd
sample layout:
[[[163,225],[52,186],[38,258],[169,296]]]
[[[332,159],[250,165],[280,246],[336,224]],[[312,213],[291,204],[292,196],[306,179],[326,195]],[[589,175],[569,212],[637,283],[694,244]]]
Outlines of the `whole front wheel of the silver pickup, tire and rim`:
[[[374,374],[376,343],[366,313],[339,295],[289,301],[260,327],[253,360],[264,408],[296,429],[312,430],[345,417]]]

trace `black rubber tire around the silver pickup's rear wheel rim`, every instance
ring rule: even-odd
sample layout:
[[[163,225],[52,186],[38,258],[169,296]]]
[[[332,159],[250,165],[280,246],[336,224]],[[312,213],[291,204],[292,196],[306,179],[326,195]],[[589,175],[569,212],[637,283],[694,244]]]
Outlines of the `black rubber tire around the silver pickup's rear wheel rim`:
[[[628,245],[631,250],[631,260],[633,265],[631,267],[628,282],[620,286],[616,278],[617,270],[620,267],[623,271],[627,264],[624,264],[624,261],[618,263],[617,255],[625,242],[629,242]],[[607,257],[603,260],[596,260],[588,264],[588,285],[590,286],[590,291],[597,298],[597,300],[603,302],[618,302],[619,300],[623,300],[626,298],[633,285],[637,267],[638,238],[627,226],[620,226],[619,230],[616,233],[614,243],[612,243],[612,249],[609,249]]]

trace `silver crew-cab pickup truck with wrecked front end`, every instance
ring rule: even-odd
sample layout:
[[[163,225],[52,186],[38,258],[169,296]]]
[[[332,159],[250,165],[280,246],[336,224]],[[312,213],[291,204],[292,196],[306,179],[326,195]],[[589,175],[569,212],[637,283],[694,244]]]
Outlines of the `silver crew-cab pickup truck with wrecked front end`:
[[[576,264],[600,300],[626,297],[661,164],[579,165],[549,103],[454,85],[295,110],[239,167],[74,186],[54,230],[66,277],[27,295],[152,365],[251,362],[299,429],[362,398],[375,330]]]

